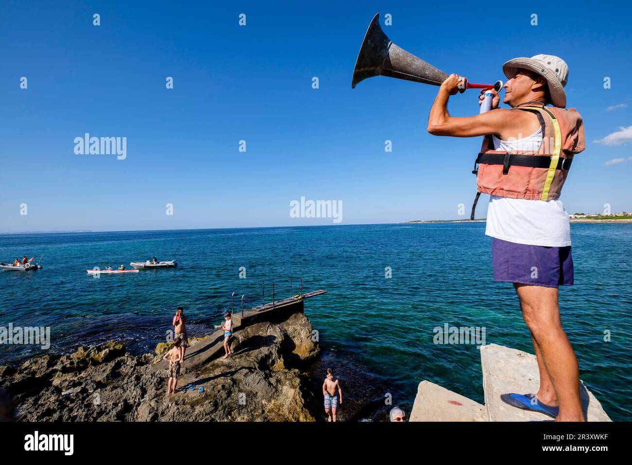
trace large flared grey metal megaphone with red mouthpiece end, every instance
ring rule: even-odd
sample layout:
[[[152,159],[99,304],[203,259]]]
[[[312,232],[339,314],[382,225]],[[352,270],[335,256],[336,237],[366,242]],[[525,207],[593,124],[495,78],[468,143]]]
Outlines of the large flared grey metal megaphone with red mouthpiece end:
[[[356,66],[351,78],[351,89],[358,82],[374,76],[388,76],[423,84],[441,85],[447,74],[426,63],[421,58],[408,53],[393,44],[380,27],[380,14],[373,17],[364,36]],[[470,84],[466,82],[466,89],[501,90],[502,82],[495,84]]]

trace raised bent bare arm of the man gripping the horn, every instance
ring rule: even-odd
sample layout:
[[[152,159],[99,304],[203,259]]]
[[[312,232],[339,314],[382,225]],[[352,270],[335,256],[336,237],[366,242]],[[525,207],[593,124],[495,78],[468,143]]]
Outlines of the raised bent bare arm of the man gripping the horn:
[[[465,118],[454,118],[447,111],[447,100],[456,94],[463,78],[451,74],[437,92],[437,97],[430,108],[428,116],[428,132],[433,135],[450,135],[453,137],[476,137],[478,135],[497,134],[516,127],[516,120],[522,112],[507,108],[497,108],[487,113]]]

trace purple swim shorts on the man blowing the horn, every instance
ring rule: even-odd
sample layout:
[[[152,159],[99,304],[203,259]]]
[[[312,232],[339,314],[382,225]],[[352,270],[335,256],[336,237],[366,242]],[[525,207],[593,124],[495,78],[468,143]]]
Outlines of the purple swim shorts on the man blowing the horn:
[[[494,281],[558,287],[573,285],[571,246],[544,247],[492,240]]]

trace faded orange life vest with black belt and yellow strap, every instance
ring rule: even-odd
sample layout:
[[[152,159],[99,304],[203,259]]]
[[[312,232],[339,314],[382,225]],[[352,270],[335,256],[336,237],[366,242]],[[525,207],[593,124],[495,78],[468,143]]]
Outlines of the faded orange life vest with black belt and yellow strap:
[[[574,108],[545,107],[542,102],[526,102],[512,109],[535,113],[542,126],[538,151],[494,150],[492,136],[483,138],[475,161],[477,197],[481,192],[499,197],[528,200],[557,199],[568,176],[574,154],[586,148],[584,125]]]

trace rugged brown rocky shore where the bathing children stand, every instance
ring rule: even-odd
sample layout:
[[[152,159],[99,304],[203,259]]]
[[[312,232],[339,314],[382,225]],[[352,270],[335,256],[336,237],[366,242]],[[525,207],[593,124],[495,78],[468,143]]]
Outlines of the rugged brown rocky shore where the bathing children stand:
[[[318,354],[302,311],[234,332],[221,359],[217,333],[191,340],[178,392],[166,395],[162,354],[118,342],[0,367],[0,417],[18,421],[315,421],[320,397],[306,367]],[[219,346],[217,345],[219,344]],[[192,386],[193,390],[188,387]],[[183,388],[186,391],[183,392]],[[203,391],[200,392],[200,387]]]

